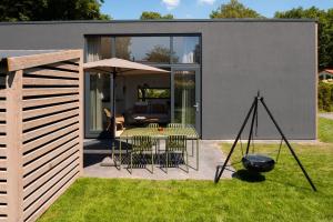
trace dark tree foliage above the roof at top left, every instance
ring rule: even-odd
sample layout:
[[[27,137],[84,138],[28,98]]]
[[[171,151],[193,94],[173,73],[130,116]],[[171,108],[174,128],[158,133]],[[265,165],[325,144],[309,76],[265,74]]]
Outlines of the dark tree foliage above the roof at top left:
[[[109,20],[103,0],[1,0],[0,21]]]

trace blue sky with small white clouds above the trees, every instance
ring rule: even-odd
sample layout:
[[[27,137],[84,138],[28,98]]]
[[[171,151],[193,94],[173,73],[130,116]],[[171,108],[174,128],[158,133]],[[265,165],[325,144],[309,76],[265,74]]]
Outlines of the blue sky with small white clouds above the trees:
[[[229,0],[104,0],[102,12],[113,19],[138,19],[142,11],[172,13],[176,19],[206,19],[212,10]],[[264,17],[295,7],[333,8],[333,0],[240,0]]]

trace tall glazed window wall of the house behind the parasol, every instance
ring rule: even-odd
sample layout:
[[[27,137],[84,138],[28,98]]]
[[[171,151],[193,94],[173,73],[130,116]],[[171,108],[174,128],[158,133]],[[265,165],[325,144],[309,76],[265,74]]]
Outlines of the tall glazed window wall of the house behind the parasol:
[[[145,74],[117,78],[117,114],[128,117],[137,102],[144,101],[152,105],[150,112],[167,113],[165,120],[161,121],[170,122],[169,114],[172,113],[174,122],[195,125],[195,89],[199,85],[195,77],[201,63],[199,36],[91,36],[87,37],[85,43],[87,62],[115,57],[172,70],[171,79],[170,75],[157,78]],[[190,70],[186,69],[189,67]],[[110,75],[99,72],[88,74],[87,133],[95,137],[104,132],[110,123],[107,112],[111,105]]]

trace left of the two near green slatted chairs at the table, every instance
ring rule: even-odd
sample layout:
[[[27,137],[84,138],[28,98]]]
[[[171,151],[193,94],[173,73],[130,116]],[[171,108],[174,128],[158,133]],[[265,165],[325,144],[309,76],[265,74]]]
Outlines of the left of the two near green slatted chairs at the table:
[[[132,150],[131,150],[131,173],[133,172],[133,154],[139,154],[140,158],[145,154],[151,155],[151,173],[153,173],[154,167],[154,153],[152,139],[149,135],[134,135],[132,139]],[[144,157],[145,158],[145,157]]]

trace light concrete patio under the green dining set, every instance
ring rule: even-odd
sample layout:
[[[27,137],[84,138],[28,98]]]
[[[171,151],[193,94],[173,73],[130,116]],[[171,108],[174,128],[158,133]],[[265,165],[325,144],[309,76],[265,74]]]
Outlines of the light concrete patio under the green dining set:
[[[168,173],[165,169],[155,164],[153,173],[151,165],[148,164],[147,168],[133,168],[133,173],[131,174],[128,170],[128,165],[123,164],[121,170],[115,167],[102,167],[101,162],[105,157],[110,155],[110,141],[107,140],[87,140],[84,142],[84,176],[93,178],[127,178],[127,179],[147,179],[147,180],[213,180],[215,174],[215,169],[218,164],[221,164],[225,159],[224,154],[219,148],[221,141],[203,140],[200,141],[200,154],[199,154],[199,171],[195,170],[195,148],[194,155],[192,157],[191,147],[189,150],[189,173],[180,168],[168,168]],[[163,144],[161,144],[163,148]],[[223,178],[231,178],[233,169],[226,170],[223,173]]]

